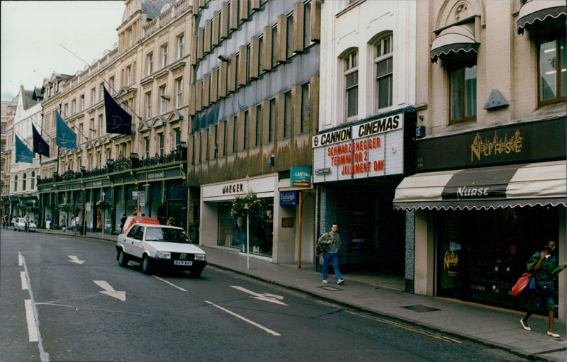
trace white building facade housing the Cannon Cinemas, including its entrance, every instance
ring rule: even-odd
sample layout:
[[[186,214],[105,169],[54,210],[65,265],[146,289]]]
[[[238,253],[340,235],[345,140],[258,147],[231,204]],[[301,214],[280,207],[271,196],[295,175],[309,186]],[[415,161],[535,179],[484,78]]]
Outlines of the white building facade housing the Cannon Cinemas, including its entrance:
[[[415,1],[321,6],[316,227],[338,223],[344,271],[405,275],[405,214],[392,200],[413,169],[416,11]]]

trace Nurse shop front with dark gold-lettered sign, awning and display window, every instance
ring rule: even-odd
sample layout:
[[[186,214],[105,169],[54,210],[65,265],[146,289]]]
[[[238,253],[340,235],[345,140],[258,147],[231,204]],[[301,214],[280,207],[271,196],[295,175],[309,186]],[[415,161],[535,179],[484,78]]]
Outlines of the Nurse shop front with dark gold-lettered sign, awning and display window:
[[[394,199],[415,230],[415,293],[523,310],[510,288],[529,256],[554,240],[566,261],[565,135],[559,118],[417,142],[424,172]]]

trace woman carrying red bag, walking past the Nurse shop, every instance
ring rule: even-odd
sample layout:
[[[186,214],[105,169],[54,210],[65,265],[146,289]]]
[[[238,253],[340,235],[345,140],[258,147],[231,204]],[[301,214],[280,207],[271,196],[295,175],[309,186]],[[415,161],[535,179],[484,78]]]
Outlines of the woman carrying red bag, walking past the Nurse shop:
[[[529,301],[526,315],[520,319],[520,324],[522,324],[525,330],[531,331],[532,328],[527,324],[529,316],[536,310],[547,310],[547,317],[549,319],[547,335],[558,338],[559,334],[554,332],[554,279],[556,278],[557,272],[563,270],[565,266],[558,266],[557,256],[554,255],[555,248],[555,242],[550,240],[545,243],[544,251],[537,251],[527,261],[526,268],[528,273],[532,273],[535,277],[536,290]],[[555,269],[558,269],[556,273],[552,273]]]

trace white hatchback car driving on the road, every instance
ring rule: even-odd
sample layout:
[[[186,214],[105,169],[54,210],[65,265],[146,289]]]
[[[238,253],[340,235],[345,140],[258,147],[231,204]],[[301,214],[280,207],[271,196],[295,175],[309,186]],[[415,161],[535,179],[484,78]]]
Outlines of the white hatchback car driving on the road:
[[[142,224],[136,222],[124,234],[118,235],[116,259],[120,266],[136,261],[142,272],[177,269],[190,271],[198,278],[207,265],[205,251],[191,243],[181,227]]]

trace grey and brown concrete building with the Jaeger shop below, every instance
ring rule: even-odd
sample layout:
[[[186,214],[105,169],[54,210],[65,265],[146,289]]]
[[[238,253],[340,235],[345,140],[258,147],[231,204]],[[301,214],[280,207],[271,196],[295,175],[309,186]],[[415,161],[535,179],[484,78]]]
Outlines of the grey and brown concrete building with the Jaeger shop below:
[[[312,261],[315,193],[310,177],[291,180],[296,167],[310,173],[318,127],[320,2],[193,6],[187,184],[201,244]],[[249,192],[262,209],[247,227],[231,208]]]

